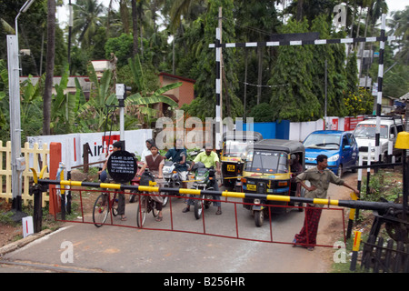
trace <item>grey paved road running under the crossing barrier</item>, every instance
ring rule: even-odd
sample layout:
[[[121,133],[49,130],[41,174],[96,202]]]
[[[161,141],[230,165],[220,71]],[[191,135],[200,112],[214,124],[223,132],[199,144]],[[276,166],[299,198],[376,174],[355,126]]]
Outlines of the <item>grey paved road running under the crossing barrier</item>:
[[[354,179],[354,174],[346,174]],[[329,196],[348,196],[345,187],[330,186]],[[341,197],[342,196],[342,197]],[[233,198],[229,198],[233,201]],[[184,199],[172,199],[173,227],[180,231],[203,233],[202,220],[193,211],[182,213]],[[115,224],[135,226],[136,204],[126,204],[127,221],[114,218]],[[211,235],[237,236],[270,240],[270,226],[255,227],[250,212],[241,205],[223,204],[223,214],[216,208],[205,210],[205,232]],[[318,244],[333,246],[342,235],[341,211],[324,210]],[[92,217],[86,216],[86,221]],[[291,211],[273,216],[274,242],[265,243],[219,236],[205,236],[166,230],[134,227],[65,223],[65,226],[1,258],[0,272],[138,272],[138,273],[321,273],[332,263],[331,247],[307,251],[289,245],[302,227],[304,213]],[[170,229],[170,207],[164,208],[164,220],[147,216],[145,227]],[[281,244],[284,243],[284,244]],[[21,264],[21,265],[17,265]],[[8,269],[7,269],[8,268]]]

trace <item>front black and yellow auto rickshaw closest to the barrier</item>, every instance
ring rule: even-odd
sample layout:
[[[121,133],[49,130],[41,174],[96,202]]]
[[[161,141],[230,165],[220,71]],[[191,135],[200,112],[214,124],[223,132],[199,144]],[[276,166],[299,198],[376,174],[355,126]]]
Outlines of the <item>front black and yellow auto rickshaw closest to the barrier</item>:
[[[264,216],[304,208],[292,202],[267,200],[267,195],[304,196],[304,187],[295,182],[303,172],[305,149],[302,143],[284,139],[264,139],[253,145],[244,163],[243,191],[263,198],[244,198],[244,208],[252,211],[255,226],[263,226]]]

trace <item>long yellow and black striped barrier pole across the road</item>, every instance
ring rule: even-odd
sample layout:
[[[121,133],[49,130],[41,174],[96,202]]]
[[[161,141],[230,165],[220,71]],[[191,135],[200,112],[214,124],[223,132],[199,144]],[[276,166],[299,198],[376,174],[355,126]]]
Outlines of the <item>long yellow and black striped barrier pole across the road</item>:
[[[265,199],[268,201],[281,201],[281,202],[295,202],[306,204],[319,204],[325,206],[342,206],[355,209],[365,210],[378,210],[386,211],[388,209],[403,209],[401,204],[394,204],[392,202],[370,202],[362,200],[334,200],[334,199],[319,199],[319,198],[306,198],[296,196],[280,196],[280,195],[265,195],[243,192],[230,192],[230,191],[212,191],[212,190],[198,190],[198,189],[186,189],[186,188],[168,188],[159,186],[133,186],[125,184],[111,184],[111,183],[95,183],[95,182],[80,182],[80,181],[67,181],[67,180],[48,180],[48,179],[35,179],[36,183],[40,185],[60,185],[60,186],[85,186],[85,187],[99,187],[115,190],[136,190],[139,192],[166,192],[171,194],[190,194],[190,195],[209,195],[209,196],[225,196],[235,198],[255,198]],[[154,183],[155,184],[155,183]]]

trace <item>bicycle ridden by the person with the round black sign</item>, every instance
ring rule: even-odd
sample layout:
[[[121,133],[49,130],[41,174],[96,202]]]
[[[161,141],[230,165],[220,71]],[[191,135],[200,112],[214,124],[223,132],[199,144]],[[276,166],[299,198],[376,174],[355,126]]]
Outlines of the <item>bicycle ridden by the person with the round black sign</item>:
[[[109,212],[111,212],[113,216],[118,215],[118,199],[116,198],[116,194],[117,191],[114,192],[112,199],[109,199],[109,192],[103,192],[96,198],[93,210],[93,221],[96,227],[104,226]]]

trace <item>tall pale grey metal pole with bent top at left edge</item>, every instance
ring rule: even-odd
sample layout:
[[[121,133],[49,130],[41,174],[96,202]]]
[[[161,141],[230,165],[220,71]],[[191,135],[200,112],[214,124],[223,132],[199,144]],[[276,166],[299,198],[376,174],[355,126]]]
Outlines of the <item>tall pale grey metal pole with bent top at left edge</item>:
[[[18,17],[27,11],[35,2],[28,0],[20,8],[15,17],[15,35],[7,35],[7,64],[8,87],[10,98],[10,138],[11,138],[11,166],[12,166],[12,210],[15,212],[14,220],[18,221],[25,216],[22,212],[21,176],[25,170],[25,158],[21,156],[21,117],[20,117],[20,66],[18,62]]]

